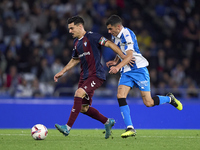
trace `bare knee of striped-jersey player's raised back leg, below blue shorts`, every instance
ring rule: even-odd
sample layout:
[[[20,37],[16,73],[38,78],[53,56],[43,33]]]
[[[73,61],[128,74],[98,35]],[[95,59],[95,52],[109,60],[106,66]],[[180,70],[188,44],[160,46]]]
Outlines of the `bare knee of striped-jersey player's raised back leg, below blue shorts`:
[[[151,97],[151,92],[150,91],[140,91],[140,94],[142,96],[142,100],[143,100],[143,103],[150,107],[150,106],[153,106],[154,104],[154,101]]]

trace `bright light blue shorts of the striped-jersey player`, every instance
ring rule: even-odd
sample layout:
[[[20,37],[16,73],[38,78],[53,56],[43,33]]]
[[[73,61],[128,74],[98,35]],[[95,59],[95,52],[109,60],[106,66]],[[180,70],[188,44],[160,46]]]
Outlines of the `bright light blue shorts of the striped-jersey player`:
[[[140,91],[150,91],[149,71],[146,67],[121,73],[118,85],[134,86]]]

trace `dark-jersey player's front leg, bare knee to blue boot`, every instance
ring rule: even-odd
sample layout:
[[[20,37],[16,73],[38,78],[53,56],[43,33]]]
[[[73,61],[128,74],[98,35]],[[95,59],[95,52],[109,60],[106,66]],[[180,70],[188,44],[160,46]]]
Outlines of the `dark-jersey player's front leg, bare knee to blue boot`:
[[[81,111],[82,98],[85,97],[85,94],[86,93],[82,88],[79,88],[78,90],[76,90],[75,96],[74,96],[74,105],[70,112],[70,116],[69,116],[67,124],[66,125],[55,124],[55,127],[65,136],[69,135],[71,127],[73,126],[74,122],[76,121],[76,118],[79,115],[79,112]]]

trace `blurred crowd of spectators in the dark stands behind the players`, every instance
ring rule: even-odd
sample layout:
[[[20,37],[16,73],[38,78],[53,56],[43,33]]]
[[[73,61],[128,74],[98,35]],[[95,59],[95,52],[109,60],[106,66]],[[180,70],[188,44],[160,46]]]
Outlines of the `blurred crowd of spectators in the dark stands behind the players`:
[[[72,96],[79,66],[58,83],[53,81],[71,59],[67,18],[80,15],[86,30],[110,39],[105,21],[117,14],[135,32],[140,51],[150,62],[152,94],[171,91],[178,97],[199,98],[199,8],[198,0],[1,0],[0,95]],[[108,48],[102,51],[105,66],[115,54]],[[99,93],[109,95],[106,92],[112,89],[113,95],[118,78],[119,74],[107,74]],[[137,97],[134,91],[130,95]]]

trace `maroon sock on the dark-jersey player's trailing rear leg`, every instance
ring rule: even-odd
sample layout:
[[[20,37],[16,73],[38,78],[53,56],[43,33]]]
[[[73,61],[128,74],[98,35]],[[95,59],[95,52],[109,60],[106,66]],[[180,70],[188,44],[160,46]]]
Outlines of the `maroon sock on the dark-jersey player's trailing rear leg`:
[[[88,111],[86,113],[83,113],[85,115],[90,116],[93,119],[96,119],[100,122],[102,122],[103,124],[106,123],[106,121],[108,120],[107,117],[105,117],[104,115],[102,115],[97,109],[95,109],[94,107],[89,107]]]

